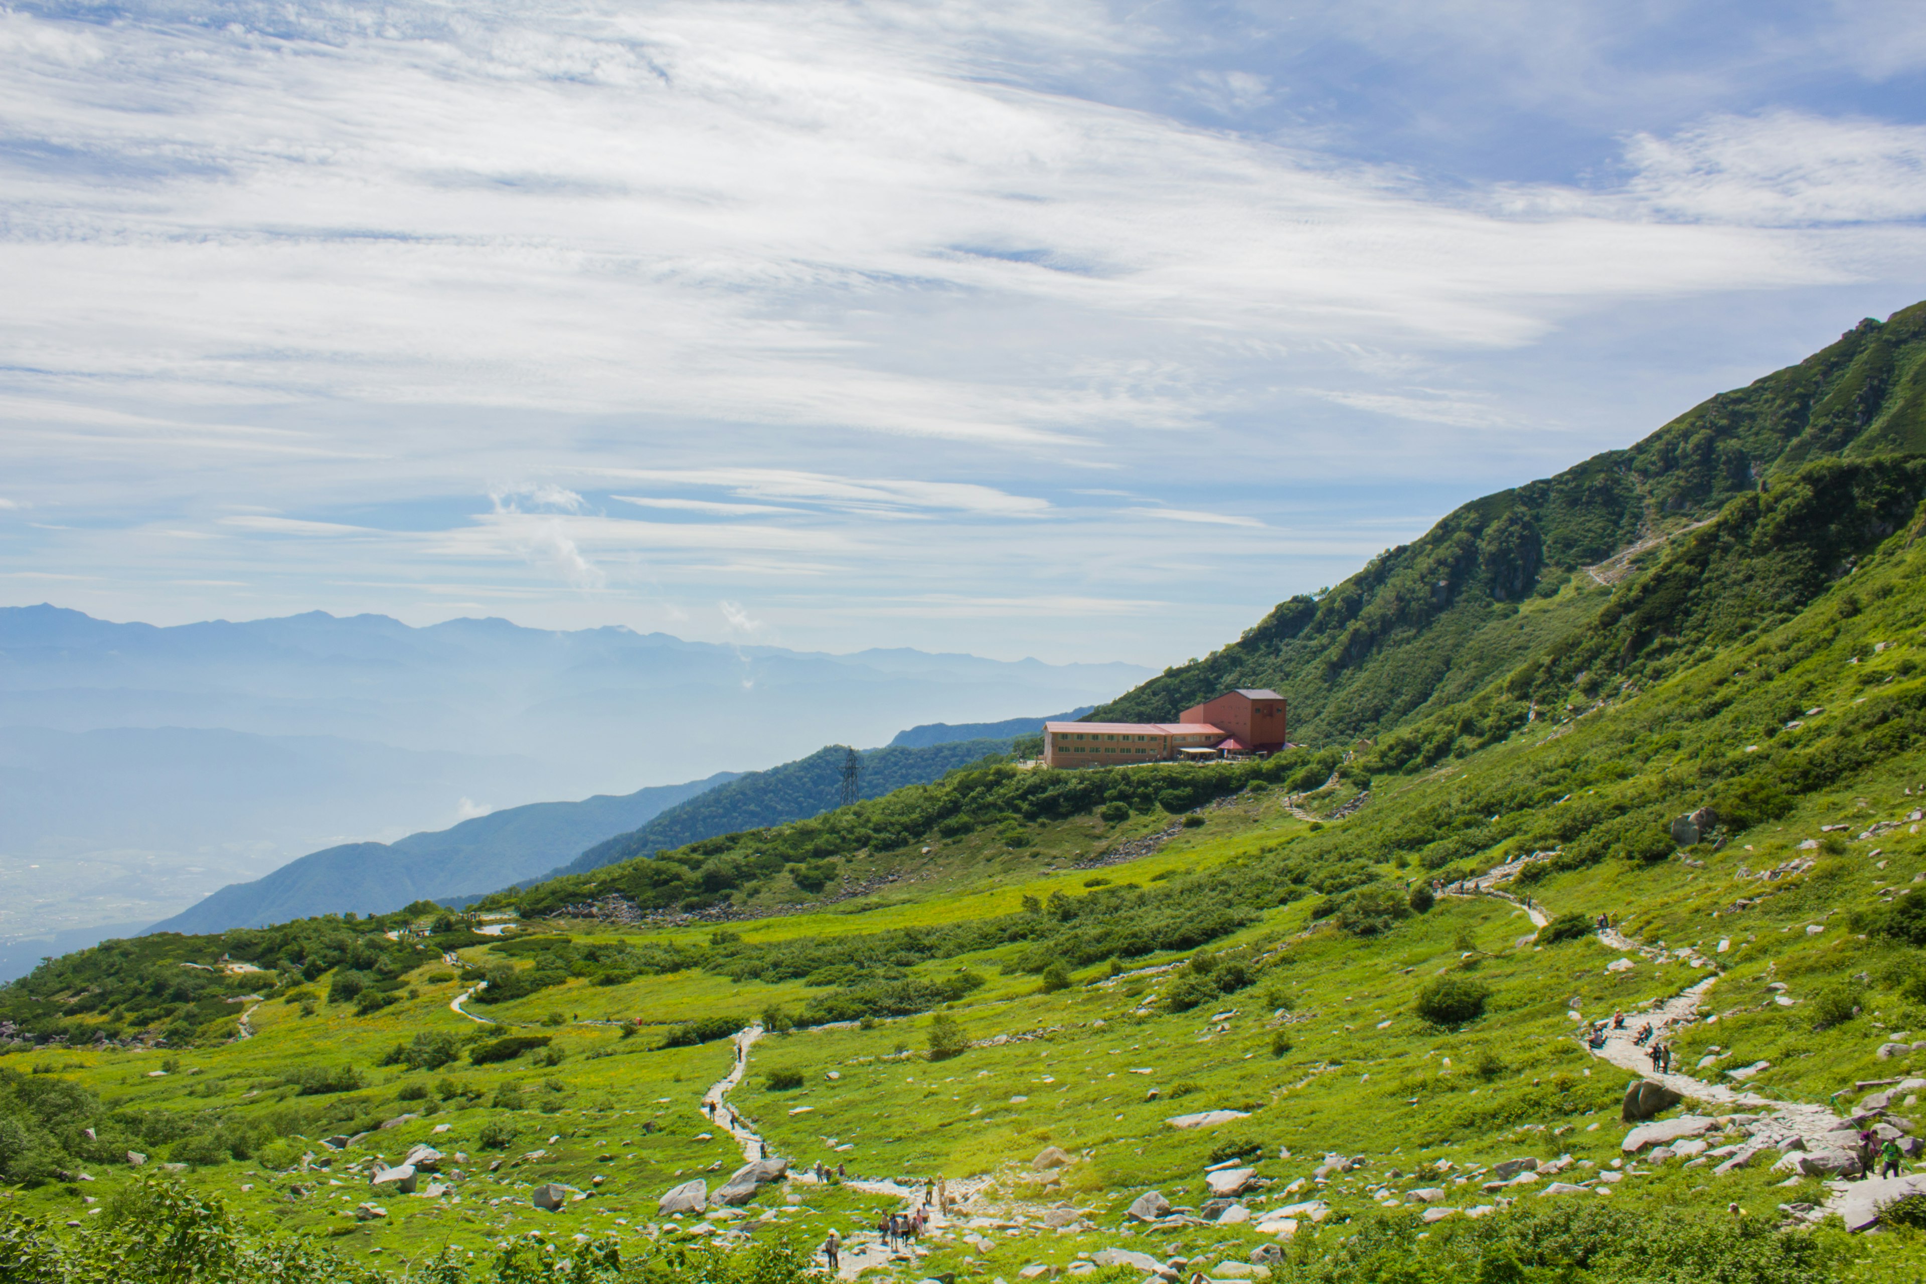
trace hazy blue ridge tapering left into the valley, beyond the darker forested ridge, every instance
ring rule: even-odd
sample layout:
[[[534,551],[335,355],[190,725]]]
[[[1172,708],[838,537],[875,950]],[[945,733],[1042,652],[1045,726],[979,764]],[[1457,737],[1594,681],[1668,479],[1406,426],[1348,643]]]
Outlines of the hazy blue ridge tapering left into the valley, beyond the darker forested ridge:
[[[383,914],[420,899],[455,899],[534,878],[584,847],[626,834],[664,809],[736,780],[716,772],[580,803],[530,803],[393,843],[343,843],[229,884],[150,932],[225,932],[318,914]]]

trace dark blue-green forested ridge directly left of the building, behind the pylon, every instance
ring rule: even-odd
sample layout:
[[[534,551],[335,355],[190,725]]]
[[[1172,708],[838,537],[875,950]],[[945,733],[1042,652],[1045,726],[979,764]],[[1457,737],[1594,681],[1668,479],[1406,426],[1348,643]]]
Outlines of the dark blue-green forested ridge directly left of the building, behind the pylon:
[[[857,753],[857,797],[874,799],[905,785],[936,780],[965,762],[992,753],[1007,753],[1011,741],[961,739],[938,745],[903,749],[865,749]],[[842,799],[846,745],[824,745],[807,758],[772,766],[767,772],[747,772],[720,789],[670,807],[649,824],[601,841],[549,878],[586,874],[587,870],[651,857],[657,851],[686,847],[707,837],[738,830],[761,830],[786,820],[803,820],[832,810]]]

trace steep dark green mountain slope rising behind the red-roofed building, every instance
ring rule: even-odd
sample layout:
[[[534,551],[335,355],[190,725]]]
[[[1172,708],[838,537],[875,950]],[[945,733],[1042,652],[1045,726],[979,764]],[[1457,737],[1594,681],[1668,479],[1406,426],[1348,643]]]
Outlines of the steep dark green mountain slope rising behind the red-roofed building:
[[[1273,687],[1290,701],[1296,741],[1379,735],[1583,628],[1597,610],[1585,591],[1601,587],[1585,566],[1676,533],[1814,458],[1907,450],[1926,450],[1926,304],[1861,321],[1631,449],[1473,501],[1323,599],[1281,603],[1238,641],[1090,716],[1169,720],[1231,687]],[[1560,585],[1581,589],[1577,601],[1529,610]]]

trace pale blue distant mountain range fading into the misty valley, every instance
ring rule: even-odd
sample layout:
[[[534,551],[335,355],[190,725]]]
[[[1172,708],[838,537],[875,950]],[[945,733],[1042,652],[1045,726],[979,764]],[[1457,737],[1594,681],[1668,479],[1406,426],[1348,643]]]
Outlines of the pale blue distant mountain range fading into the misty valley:
[[[0,951],[175,916],[302,853],[767,768],[824,741],[880,745],[915,724],[1088,705],[1146,674],[507,620],[156,628],[0,608]],[[630,812],[539,859],[638,824]]]

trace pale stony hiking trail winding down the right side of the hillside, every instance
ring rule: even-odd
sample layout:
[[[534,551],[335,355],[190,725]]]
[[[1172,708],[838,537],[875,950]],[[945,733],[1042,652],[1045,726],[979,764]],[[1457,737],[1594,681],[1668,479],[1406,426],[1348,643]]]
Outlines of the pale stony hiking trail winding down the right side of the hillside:
[[[1441,895],[1485,895],[1498,901],[1508,901],[1523,909],[1531,922],[1545,926],[1550,918],[1545,911],[1531,903],[1520,901],[1508,891],[1498,891],[1497,884],[1512,878],[1520,868],[1529,864],[1535,857],[1523,857],[1500,864],[1477,878],[1460,880],[1446,886]],[[1699,1022],[1699,1009],[1703,999],[1712,986],[1718,984],[1722,972],[1716,963],[1699,957],[1693,949],[1666,951],[1653,945],[1643,945],[1624,936],[1616,928],[1599,928],[1593,934],[1601,945],[1606,949],[1616,949],[1620,953],[1641,955],[1647,963],[1656,968],[1666,963],[1683,963],[1693,968],[1710,968],[1710,976],[1687,986],[1679,993],[1651,1005],[1639,1013],[1626,1013],[1624,1028],[1604,1030],[1604,1043],[1601,1047],[1591,1047],[1589,1041],[1581,1040],[1585,1049],[1622,1070],[1631,1070],[1633,1074],[1645,1078],[1647,1082],[1660,1084],[1679,1093],[1687,1103],[1705,1103],[1714,1107],[1726,1107],[1726,1113],[1735,1113],[1739,1109],[1758,1111],[1760,1120],[1755,1120],[1745,1128],[1745,1138],[1733,1147],[1731,1163],[1735,1167],[1745,1167],[1751,1163],[1753,1155],[1766,1155],[1768,1151],[1778,1151],[1782,1155],[1791,1155],[1795,1151],[1837,1151],[1841,1149],[1841,1126],[1847,1124],[1824,1105],[1810,1105],[1803,1101],[1776,1101],[1772,1097],[1760,1095],[1757,1091],[1747,1091],[1743,1088],[1733,1088],[1728,1084],[1710,1084],[1691,1074],[1654,1070],[1649,1047],[1653,1043],[1664,1041],[1666,1034],[1674,1028],[1691,1026]],[[1522,937],[1529,939],[1529,937]],[[1612,964],[1618,966],[1618,964]],[[1637,1030],[1645,1024],[1653,1026],[1653,1036],[1647,1043],[1637,1041]],[[1716,1061],[1714,1061],[1716,1065]],[[1866,1124],[1870,1126],[1870,1122]],[[1847,1134],[1851,1136],[1851,1134]],[[1695,1163],[1705,1163],[1699,1159]],[[1712,1168],[1716,1174],[1720,1168]],[[1801,1186],[1805,1178],[1793,1172],[1785,1186]],[[1893,1199],[1913,1194],[1926,1194],[1926,1174],[1895,1176],[1895,1178],[1864,1178],[1857,1182],[1826,1178],[1824,1211],[1837,1213],[1845,1220],[1849,1230],[1866,1230],[1878,1222],[1878,1209]]]

